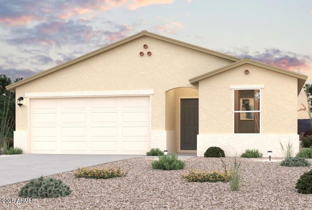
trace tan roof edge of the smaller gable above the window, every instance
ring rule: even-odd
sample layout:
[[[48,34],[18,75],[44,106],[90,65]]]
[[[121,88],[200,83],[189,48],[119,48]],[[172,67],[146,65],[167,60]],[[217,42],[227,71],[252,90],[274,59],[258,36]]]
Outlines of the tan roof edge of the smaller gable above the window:
[[[198,84],[198,82],[200,80],[203,80],[203,79],[215,76],[217,74],[220,74],[222,72],[231,70],[233,68],[236,68],[236,67],[244,65],[244,64],[251,64],[251,65],[254,65],[254,66],[257,66],[257,67],[260,67],[260,68],[264,68],[264,69],[271,70],[271,71],[274,71],[274,72],[277,72],[277,73],[280,73],[280,74],[284,74],[284,75],[288,75],[288,76],[297,78],[297,81],[298,81],[297,82],[297,84],[298,84],[298,95],[299,95],[303,85],[305,84],[306,80],[308,79],[308,76],[306,76],[306,75],[299,74],[299,73],[296,73],[296,72],[293,72],[293,71],[289,71],[289,70],[285,70],[285,69],[281,69],[281,68],[277,68],[277,67],[274,67],[272,65],[259,63],[259,62],[256,62],[256,61],[253,61],[253,60],[250,60],[250,59],[246,58],[246,59],[243,59],[243,60],[238,61],[236,63],[232,63],[232,64],[229,64],[229,65],[223,66],[221,68],[215,69],[213,71],[209,71],[209,72],[207,72],[205,74],[202,74],[202,75],[199,75],[199,76],[194,77],[192,79],[189,79],[189,81],[190,81],[191,84]]]

